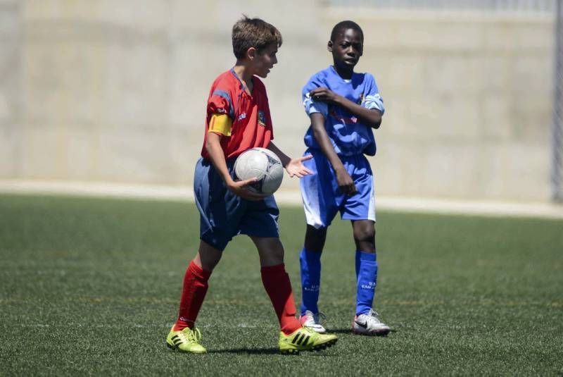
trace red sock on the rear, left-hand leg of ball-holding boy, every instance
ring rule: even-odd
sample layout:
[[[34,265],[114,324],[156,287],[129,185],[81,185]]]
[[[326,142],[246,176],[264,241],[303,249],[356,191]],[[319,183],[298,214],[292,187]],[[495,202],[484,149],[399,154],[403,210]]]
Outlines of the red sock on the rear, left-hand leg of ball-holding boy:
[[[194,328],[199,309],[203,304],[205,293],[207,293],[207,282],[210,276],[211,271],[203,270],[194,261],[191,261],[186,268],[178,319],[174,325],[175,331],[183,330],[186,327]]]

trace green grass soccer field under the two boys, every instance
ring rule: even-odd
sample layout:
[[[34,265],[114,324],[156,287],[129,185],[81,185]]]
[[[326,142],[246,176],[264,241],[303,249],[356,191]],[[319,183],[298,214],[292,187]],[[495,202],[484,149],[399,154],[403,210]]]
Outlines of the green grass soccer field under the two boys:
[[[280,227],[298,302],[302,209],[282,207]],[[277,354],[241,236],[198,317],[208,354],[188,355],[165,336],[198,245],[194,204],[0,195],[0,375],[562,375],[563,221],[379,212],[377,231],[388,337],[350,333],[354,247],[335,221],[320,298],[335,347]]]

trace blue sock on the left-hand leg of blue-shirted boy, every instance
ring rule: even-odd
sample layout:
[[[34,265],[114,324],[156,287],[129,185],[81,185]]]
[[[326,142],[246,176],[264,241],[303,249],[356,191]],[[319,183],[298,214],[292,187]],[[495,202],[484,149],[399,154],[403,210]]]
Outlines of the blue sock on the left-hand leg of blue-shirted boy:
[[[301,315],[305,314],[306,310],[317,314],[321,284],[321,253],[311,252],[303,247],[299,261],[301,262]]]

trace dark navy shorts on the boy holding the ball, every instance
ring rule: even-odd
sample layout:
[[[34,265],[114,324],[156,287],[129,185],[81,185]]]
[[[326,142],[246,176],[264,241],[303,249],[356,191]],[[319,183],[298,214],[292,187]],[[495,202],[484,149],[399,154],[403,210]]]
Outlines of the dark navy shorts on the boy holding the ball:
[[[235,159],[227,159],[234,177]],[[279,209],[272,195],[257,202],[233,194],[224,185],[213,163],[199,159],[194,177],[194,194],[200,214],[199,237],[209,245],[224,250],[232,237],[279,237]]]

